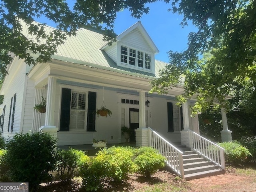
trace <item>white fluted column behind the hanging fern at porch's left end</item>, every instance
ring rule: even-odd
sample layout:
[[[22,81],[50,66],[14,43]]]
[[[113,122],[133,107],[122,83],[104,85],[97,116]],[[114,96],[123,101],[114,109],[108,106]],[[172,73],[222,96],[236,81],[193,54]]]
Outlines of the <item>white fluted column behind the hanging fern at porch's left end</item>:
[[[43,88],[36,88],[35,105],[39,104],[39,102],[42,100],[43,95],[44,95],[44,89]],[[38,113],[34,110],[33,124],[32,124],[32,131],[33,132],[38,132],[38,129],[40,128],[41,115],[42,115],[41,113]]]

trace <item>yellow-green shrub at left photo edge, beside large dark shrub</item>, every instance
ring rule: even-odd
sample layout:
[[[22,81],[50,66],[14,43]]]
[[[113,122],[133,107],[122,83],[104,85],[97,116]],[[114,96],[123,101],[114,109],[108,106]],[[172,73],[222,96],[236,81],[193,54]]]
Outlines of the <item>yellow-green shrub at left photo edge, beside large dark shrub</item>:
[[[0,182],[11,182],[9,176],[9,167],[6,163],[7,150],[0,150]]]

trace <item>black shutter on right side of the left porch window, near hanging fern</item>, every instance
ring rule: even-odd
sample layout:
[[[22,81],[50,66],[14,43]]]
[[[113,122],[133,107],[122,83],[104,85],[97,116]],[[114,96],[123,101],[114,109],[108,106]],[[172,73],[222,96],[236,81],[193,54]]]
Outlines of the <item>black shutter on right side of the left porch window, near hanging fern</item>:
[[[95,131],[96,92],[88,93],[87,131]]]

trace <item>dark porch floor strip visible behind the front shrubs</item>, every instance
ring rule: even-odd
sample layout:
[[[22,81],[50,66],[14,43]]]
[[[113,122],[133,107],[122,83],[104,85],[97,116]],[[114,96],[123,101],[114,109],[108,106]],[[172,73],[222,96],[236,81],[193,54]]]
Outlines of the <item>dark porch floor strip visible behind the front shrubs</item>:
[[[136,148],[136,143],[135,142],[129,142],[129,143],[113,143],[113,144],[108,144],[106,147],[112,147],[112,146],[130,146]],[[57,146],[59,150],[69,150],[70,148],[72,149],[77,149],[77,150],[82,150],[84,151],[88,156],[94,156],[99,148],[94,148],[92,147],[92,144],[90,145],[63,145],[63,146]]]

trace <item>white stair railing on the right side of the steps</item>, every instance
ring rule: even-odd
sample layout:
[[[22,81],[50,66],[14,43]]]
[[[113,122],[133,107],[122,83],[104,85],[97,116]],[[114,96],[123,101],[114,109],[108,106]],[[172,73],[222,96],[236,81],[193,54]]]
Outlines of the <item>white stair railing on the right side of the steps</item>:
[[[200,155],[220,166],[222,169],[225,169],[224,148],[191,130],[188,132],[188,134],[189,138],[192,139],[192,150],[198,152]]]

